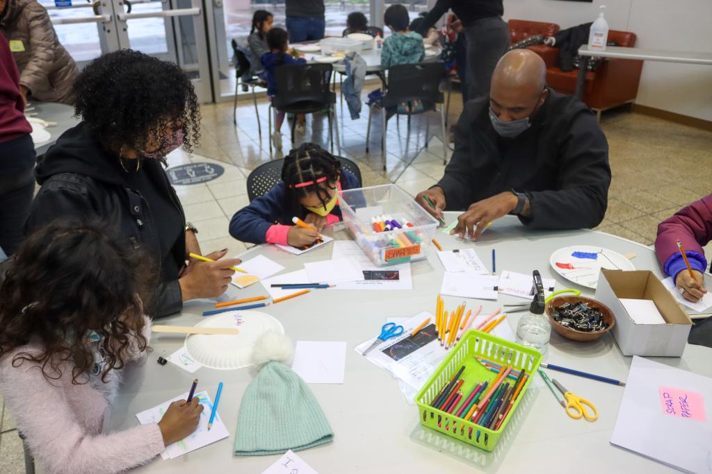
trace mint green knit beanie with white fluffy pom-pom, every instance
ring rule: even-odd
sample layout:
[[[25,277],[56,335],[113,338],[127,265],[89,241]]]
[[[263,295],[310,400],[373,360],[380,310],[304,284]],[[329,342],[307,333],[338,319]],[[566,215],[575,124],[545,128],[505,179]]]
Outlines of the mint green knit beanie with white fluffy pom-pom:
[[[276,331],[257,340],[253,364],[264,365],[242,397],[235,456],[282,454],[329,443],[334,433],[307,384],[283,362],[292,345]]]

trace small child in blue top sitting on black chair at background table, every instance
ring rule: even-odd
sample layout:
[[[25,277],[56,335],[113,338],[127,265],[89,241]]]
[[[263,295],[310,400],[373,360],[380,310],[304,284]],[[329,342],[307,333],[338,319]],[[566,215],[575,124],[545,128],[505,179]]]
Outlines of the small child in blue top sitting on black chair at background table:
[[[287,53],[288,44],[288,33],[282,28],[271,28],[269,33],[267,33],[267,45],[269,46],[270,52],[262,55],[262,65],[265,68],[264,77],[267,80],[267,96],[271,101],[273,97],[277,95],[277,77],[276,69],[285,64],[305,64],[306,60],[304,58],[295,58]],[[305,117],[303,114],[298,114],[297,120],[297,131],[299,133],[304,133]],[[274,134],[272,139],[274,141],[274,146],[277,149],[282,148],[282,122],[284,122],[284,112],[278,112],[275,117],[274,124]]]

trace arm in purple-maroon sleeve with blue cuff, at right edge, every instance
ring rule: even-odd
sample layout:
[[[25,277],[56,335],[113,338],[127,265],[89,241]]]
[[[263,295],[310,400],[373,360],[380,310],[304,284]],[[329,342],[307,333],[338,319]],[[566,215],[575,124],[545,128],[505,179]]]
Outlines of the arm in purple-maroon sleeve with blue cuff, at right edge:
[[[687,266],[677,247],[678,240],[685,249],[694,278],[689,271],[683,271]],[[682,208],[658,225],[655,252],[665,274],[672,277],[680,294],[689,301],[699,301],[707,293],[703,274],[708,262],[702,246],[711,240],[712,194]]]

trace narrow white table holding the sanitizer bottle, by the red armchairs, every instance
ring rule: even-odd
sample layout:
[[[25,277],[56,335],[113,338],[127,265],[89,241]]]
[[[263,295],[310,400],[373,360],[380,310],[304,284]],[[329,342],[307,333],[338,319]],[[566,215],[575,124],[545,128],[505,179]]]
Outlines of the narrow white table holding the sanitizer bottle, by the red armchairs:
[[[689,63],[712,65],[712,53],[696,53],[694,51],[666,51],[659,49],[624,48],[622,46],[606,46],[606,49],[590,50],[583,45],[578,50],[581,64],[576,78],[576,97],[583,97],[583,84],[586,78],[588,58],[618,58],[637,59],[644,61],[659,61],[662,63]]]

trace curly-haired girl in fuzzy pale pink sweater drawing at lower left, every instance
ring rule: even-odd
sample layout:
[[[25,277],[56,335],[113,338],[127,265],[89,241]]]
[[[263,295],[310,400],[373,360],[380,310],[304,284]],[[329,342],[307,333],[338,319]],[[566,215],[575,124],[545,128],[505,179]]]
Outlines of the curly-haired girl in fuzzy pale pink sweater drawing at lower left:
[[[102,433],[121,369],[147,350],[140,295],[150,258],[100,227],[53,223],[28,237],[0,287],[0,392],[51,473],[117,473],[192,433],[202,406]]]

